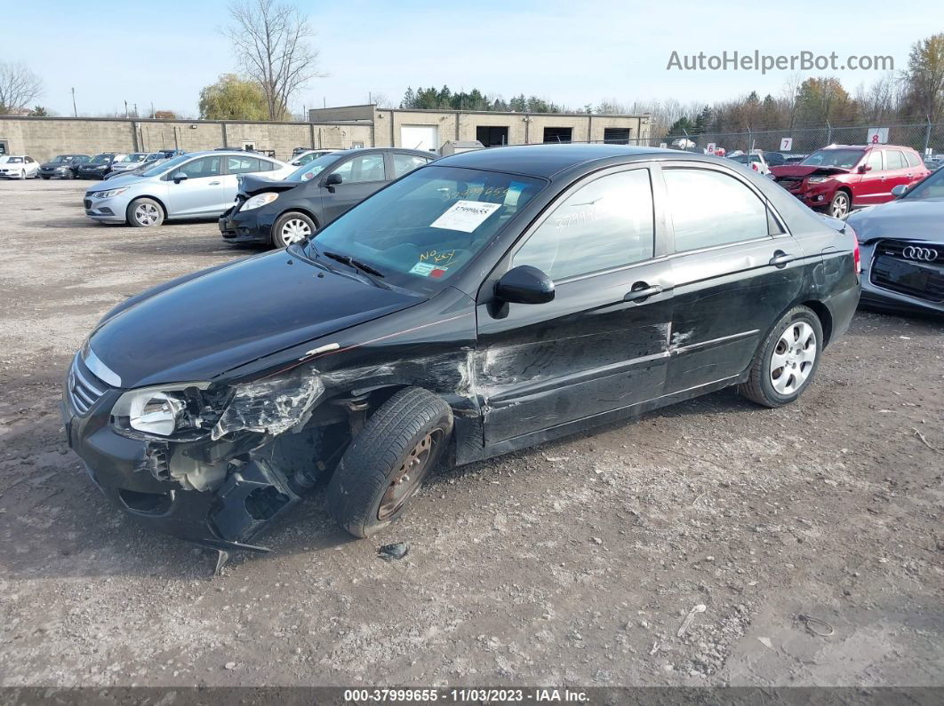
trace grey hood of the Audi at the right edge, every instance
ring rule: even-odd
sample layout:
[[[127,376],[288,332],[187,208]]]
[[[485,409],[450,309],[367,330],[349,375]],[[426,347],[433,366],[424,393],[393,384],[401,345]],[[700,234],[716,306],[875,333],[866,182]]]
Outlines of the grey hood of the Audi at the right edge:
[[[898,199],[853,211],[848,222],[861,242],[877,238],[944,242],[944,199]]]

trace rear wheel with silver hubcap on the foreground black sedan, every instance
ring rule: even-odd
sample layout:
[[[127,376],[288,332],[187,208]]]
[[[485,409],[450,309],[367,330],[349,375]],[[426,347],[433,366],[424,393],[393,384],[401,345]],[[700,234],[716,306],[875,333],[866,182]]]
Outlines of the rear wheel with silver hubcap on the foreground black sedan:
[[[800,397],[819,367],[822,324],[806,306],[795,306],[757,349],[746,383],[737,391],[765,407],[780,407]]]

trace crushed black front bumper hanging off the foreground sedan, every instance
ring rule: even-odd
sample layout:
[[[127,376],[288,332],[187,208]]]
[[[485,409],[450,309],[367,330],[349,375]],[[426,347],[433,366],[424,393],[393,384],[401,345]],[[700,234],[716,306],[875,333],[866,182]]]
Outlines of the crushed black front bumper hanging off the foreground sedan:
[[[88,376],[88,370],[83,374]],[[79,413],[71,385],[73,374],[61,404],[69,447],[111,502],[154,530],[212,549],[265,551],[248,541],[300,500],[285,474],[261,456],[237,453],[238,444],[232,447],[233,458],[213,459],[218,442],[148,441],[118,434],[110,424],[110,409],[123,390],[101,383],[107,388],[104,394]],[[226,465],[225,478],[212,489],[187,489],[170,472],[176,460],[193,465],[194,459],[204,458]]]

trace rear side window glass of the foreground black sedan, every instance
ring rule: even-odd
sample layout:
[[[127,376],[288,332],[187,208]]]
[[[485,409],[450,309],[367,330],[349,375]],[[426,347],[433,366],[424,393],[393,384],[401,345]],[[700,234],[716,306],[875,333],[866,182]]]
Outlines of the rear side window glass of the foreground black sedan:
[[[697,250],[769,235],[767,208],[732,176],[705,169],[665,169],[675,249]],[[723,204],[723,214],[718,205]]]

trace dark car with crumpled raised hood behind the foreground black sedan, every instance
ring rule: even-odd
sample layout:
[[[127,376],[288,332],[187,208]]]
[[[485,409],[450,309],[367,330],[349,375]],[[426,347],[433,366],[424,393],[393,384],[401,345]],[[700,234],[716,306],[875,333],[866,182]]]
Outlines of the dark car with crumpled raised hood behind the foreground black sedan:
[[[417,150],[342,150],[313,159],[285,181],[244,176],[236,203],[220,217],[220,233],[230,243],[284,248],[433,159]]]

